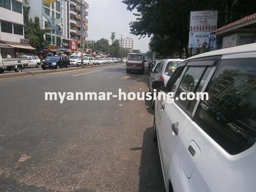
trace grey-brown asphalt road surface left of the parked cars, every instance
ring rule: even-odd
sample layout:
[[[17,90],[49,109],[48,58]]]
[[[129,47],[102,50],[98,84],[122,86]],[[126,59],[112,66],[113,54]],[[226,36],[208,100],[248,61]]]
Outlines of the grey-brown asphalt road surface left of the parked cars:
[[[150,102],[45,101],[147,82],[124,64],[0,79],[0,191],[165,191]]]

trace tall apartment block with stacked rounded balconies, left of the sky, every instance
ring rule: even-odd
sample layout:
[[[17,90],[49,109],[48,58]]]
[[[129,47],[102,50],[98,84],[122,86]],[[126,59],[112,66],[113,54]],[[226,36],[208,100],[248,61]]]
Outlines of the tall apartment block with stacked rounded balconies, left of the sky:
[[[83,25],[83,41],[85,42],[88,37],[88,12],[86,9],[89,8],[88,3],[83,0],[82,13],[81,13],[81,1],[70,0],[63,1],[63,39],[75,41],[78,49],[81,40],[81,27]]]

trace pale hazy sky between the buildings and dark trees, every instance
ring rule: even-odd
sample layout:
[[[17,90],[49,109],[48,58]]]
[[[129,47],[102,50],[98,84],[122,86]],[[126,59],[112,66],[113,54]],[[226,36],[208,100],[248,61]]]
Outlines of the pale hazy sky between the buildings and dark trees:
[[[116,32],[116,39],[132,37],[134,39],[134,49],[142,52],[148,51],[150,38],[141,38],[130,33],[129,23],[136,19],[132,12],[126,10],[125,4],[121,0],[86,0],[89,4],[87,10],[89,16],[88,39],[98,40],[100,38],[109,39],[111,43],[111,32]]]

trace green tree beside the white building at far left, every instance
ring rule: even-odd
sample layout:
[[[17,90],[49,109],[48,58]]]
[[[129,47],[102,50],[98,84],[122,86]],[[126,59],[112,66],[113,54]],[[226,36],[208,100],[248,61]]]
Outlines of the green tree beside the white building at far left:
[[[25,38],[29,39],[30,45],[36,48],[37,51],[40,51],[44,46],[44,34],[45,30],[40,29],[39,18],[35,16],[34,22],[32,18],[29,19],[29,9],[24,6],[24,32]]]

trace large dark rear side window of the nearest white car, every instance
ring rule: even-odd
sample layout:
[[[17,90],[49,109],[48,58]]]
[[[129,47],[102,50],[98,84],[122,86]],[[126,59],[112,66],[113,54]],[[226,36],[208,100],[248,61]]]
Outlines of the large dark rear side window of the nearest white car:
[[[256,141],[256,59],[222,60],[195,122],[230,155]]]

